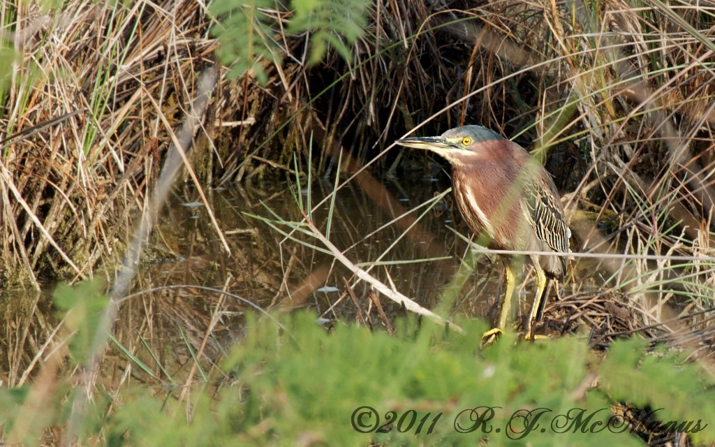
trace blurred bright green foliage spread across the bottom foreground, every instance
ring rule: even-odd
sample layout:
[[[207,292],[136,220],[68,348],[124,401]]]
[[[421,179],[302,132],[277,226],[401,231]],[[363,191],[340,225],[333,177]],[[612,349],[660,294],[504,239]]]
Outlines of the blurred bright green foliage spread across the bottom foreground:
[[[63,286],[55,296],[74,330],[72,355],[84,355],[102,284]],[[682,355],[646,353],[638,340],[615,343],[600,360],[581,338],[526,343],[506,333],[482,349],[479,321],[458,322],[468,334],[459,335],[407,318],[390,336],[344,323],[328,332],[312,313],[283,318],[285,329],[249,316],[244,338],[223,362],[225,375],[196,385],[188,400],[179,402],[176,388],[141,380],[111,396],[96,390],[79,444],[103,437],[109,446],[472,446],[483,439],[496,446],[643,445],[611,415],[614,400],[663,408],[656,418],[666,423],[699,421],[687,426],[694,441],[715,441],[711,375]],[[598,388],[585,387],[596,373]],[[0,389],[0,426],[11,439],[32,443],[64,423],[71,383]],[[38,394],[51,389],[52,396]],[[12,432],[28,425],[22,436]]]

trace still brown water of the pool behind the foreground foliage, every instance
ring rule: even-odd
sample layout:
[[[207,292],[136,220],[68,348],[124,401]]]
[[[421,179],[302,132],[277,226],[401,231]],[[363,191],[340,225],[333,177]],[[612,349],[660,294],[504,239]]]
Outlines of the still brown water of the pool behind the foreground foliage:
[[[209,207],[194,188],[178,187],[142,255],[134,295],[119,312],[116,339],[122,348],[114,345],[117,363],[107,366],[108,377],[119,380],[127,373],[120,360],[127,351],[146,365],[158,361],[172,374],[190,368],[196,353],[212,363],[240,338],[247,315],[257,314],[253,306],[271,313],[309,308],[326,325],[355,320],[382,330],[368,285],[310,235],[303,214],[310,208],[322,234],[329,233],[350,262],[385,285],[430,309],[449,295],[453,304],[442,315],[493,319],[503,267],[484,256],[470,260],[464,239],[470,234],[451,195],[435,200],[449,186],[442,172],[419,172],[400,182],[366,175],[330,198],[335,180],[313,179],[205,190]],[[282,234],[292,230],[290,237]],[[523,296],[531,295],[531,282],[526,287]],[[388,320],[405,315],[377,296]],[[2,369],[9,383],[17,383],[59,322],[47,294],[5,293],[0,300]]]

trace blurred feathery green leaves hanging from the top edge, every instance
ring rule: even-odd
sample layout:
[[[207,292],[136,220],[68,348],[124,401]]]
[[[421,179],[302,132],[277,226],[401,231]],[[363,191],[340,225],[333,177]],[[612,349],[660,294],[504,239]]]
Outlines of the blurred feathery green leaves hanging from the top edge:
[[[347,44],[354,44],[365,34],[371,4],[370,0],[295,0],[285,27],[278,26],[275,19],[285,11],[267,14],[276,7],[270,0],[215,1],[209,10],[219,21],[212,33],[221,41],[218,50],[221,61],[232,67],[230,76],[241,77],[251,72],[265,84],[267,77],[262,64],[279,59],[277,34],[310,32],[308,64],[320,62],[329,46],[349,60]]]

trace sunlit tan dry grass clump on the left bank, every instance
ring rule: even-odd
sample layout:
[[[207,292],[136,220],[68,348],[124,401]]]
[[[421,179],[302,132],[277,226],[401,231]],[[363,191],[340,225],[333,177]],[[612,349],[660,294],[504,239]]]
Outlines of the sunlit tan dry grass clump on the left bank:
[[[122,255],[194,72],[213,64],[209,21],[182,1],[2,8],[18,56],[0,109],[0,270],[89,277]]]

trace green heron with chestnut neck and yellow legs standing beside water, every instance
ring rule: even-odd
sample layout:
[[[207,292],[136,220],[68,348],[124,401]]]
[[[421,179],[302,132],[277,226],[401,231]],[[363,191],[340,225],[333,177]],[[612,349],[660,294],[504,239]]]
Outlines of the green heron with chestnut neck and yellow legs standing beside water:
[[[551,175],[523,147],[481,126],[456,127],[439,137],[398,139],[397,144],[428,149],[452,165],[455,202],[475,235],[488,238],[497,250],[568,253],[571,231]],[[547,275],[560,278],[566,257],[529,255],[536,269],[536,297],[526,326],[541,313]],[[501,256],[506,267],[506,293],[498,325],[483,335],[492,340],[501,333],[516,285],[516,257]]]

